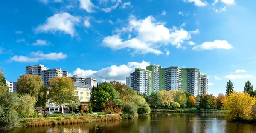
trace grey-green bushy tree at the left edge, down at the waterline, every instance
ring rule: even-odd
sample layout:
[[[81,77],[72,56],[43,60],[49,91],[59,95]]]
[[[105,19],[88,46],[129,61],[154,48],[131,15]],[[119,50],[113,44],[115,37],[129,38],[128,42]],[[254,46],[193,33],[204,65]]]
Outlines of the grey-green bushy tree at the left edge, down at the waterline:
[[[9,129],[18,122],[15,107],[18,104],[18,95],[15,92],[6,92],[0,96],[0,128]]]

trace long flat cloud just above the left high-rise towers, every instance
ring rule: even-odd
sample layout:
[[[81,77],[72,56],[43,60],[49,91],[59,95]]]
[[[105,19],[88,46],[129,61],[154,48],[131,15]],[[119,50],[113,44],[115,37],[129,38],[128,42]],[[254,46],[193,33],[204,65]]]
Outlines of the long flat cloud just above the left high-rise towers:
[[[38,62],[39,60],[59,60],[67,57],[67,55],[62,52],[44,54],[42,51],[37,51],[31,52],[30,55],[31,57],[15,55],[9,59],[9,62]]]

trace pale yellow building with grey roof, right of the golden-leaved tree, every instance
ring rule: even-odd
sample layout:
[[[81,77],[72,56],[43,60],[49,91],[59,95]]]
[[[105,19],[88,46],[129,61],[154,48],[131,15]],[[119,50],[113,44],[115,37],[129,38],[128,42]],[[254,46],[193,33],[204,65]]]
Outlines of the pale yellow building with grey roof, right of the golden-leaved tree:
[[[75,93],[79,97],[81,103],[89,102],[92,86],[83,83],[75,83]]]

